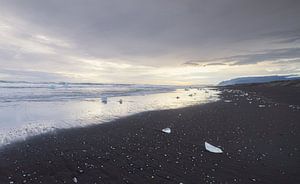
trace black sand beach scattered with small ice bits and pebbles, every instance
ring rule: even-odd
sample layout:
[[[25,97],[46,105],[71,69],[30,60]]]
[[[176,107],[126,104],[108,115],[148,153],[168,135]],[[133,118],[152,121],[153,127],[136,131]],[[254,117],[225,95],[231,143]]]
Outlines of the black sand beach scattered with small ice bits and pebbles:
[[[300,82],[285,84],[220,88],[218,102],[9,145],[0,183],[300,183]]]

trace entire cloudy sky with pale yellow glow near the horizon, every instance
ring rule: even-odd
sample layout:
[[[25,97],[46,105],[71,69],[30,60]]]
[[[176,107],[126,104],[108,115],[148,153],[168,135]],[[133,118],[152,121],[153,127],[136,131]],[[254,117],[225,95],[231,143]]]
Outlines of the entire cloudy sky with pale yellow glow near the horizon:
[[[300,74],[299,0],[0,0],[0,80]]]

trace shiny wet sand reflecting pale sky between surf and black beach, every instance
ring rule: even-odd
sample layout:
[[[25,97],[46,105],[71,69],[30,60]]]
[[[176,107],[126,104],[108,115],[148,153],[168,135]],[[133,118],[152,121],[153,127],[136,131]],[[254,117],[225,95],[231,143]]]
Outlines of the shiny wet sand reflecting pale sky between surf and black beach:
[[[1,104],[0,144],[56,128],[98,124],[138,112],[180,108],[215,101],[218,92],[178,89],[173,92],[70,101],[11,102]],[[178,98],[179,97],[179,98]],[[122,99],[122,103],[120,103]]]

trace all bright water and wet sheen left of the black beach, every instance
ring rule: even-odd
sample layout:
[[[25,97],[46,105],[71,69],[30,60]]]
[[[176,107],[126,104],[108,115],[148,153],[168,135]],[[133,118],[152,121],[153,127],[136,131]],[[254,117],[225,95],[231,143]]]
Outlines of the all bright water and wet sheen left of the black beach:
[[[0,82],[0,145],[143,111],[212,102],[218,93],[176,86]]]

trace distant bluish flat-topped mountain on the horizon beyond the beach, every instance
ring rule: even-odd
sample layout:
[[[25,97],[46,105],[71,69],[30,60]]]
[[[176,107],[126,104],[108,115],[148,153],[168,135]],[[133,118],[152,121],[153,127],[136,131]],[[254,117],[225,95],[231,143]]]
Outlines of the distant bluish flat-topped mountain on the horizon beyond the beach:
[[[235,79],[230,79],[226,81],[220,82],[219,86],[229,86],[235,84],[250,84],[250,83],[264,83],[264,82],[272,82],[272,81],[285,81],[285,80],[294,80],[300,79],[299,76],[296,75],[285,75],[285,76],[260,76],[260,77],[240,77]]]

